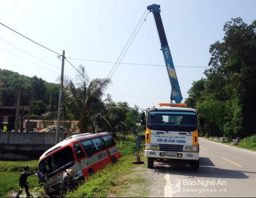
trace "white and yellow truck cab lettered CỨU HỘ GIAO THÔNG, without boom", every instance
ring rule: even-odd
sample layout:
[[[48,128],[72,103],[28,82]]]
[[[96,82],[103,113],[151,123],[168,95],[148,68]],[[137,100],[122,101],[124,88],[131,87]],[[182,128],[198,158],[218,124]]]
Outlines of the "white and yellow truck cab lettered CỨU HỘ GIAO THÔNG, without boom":
[[[199,168],[197,111],[186,104],[159,104],[146,112],[147,167],[157,162],[190,163]],[[164,106],[168,105],[168,106]]]

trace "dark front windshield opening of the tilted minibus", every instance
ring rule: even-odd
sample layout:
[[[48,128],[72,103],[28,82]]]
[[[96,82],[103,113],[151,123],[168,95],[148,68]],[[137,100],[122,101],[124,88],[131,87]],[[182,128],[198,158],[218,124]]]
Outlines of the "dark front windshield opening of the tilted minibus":
[[[40,161],[39,170],[43,174],[49,174],[58,169],[69,168],[67,166],[71,166],[74,160],[72,149],[70,146],[67,146]]]

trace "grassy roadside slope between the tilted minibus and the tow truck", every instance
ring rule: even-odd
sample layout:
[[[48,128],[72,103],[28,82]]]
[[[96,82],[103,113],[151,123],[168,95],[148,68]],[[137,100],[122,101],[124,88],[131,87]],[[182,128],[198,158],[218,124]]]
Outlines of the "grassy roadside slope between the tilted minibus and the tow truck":
[[[118,159],[118,162],[113,164],[113,166],[107,166],[96,172],[88,181],[78,187],[77,190],[69,192],[66,197],[107,197],[109,193],[113,193],[115,186],[126,185],[126,182],[120,181],[120,178],[132,173],[132,169],[136,166],[132,164],[132,161],[136,160],[134,155],[136,151],[135,140],[135,136],[129,136],[121,142],[118,145],[118,150],[123,157]],[[142,181],[136,179],[133,182]]]

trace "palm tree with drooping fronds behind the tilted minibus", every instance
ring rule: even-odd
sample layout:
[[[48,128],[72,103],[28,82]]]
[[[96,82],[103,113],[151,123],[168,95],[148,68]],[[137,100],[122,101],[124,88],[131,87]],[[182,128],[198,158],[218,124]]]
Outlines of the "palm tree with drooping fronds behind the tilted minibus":
[[[69,77],[65,78],[63,112],[79,121],[81,133],[94,129],[93,121],[97,118],[95,115],[98,115],[97,113],[105,106],[101,99],[110,83],[110,78],[95,78],[89,82],[87,72],[82,65],[78,67],[75,81]]]

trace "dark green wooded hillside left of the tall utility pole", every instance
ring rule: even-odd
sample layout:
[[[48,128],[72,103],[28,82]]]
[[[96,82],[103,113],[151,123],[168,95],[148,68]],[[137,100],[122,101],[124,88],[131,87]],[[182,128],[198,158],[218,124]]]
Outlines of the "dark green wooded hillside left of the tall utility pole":
[[[43,101],[47,104],[43,110],[35,113],[45,112],[46,110],[56,110],[58,108],[59,85],[47,83],[42,78],[36,76],[30,78],[20,75],[17,72],[0,69],[0,77],[3,85],[0,86],[0,104],[1,106],[15,106],[17,101],[18,85],[21,85],[20,105],[27,106],[30,100],[30,94],[34,101]],[[39,102],[40,103],[40,102]],[[33,106],[32,106],[33,108]],[[39,107],[34,107],[38,109]],[[40,115],[40,114],[37,114]]]

